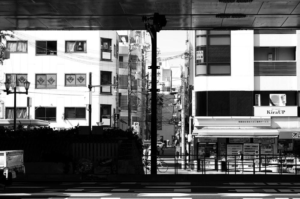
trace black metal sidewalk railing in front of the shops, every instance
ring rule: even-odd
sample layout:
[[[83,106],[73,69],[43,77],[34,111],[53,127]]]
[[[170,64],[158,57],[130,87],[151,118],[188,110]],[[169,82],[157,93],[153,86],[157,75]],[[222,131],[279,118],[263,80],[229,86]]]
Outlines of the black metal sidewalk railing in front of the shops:
[[[234,158],[227,158],[227,157]],[[142,158],[143,156],[141,156]],[[239,167],[239,155],[214,155],[214,157],[189,155],[160,155],[168,164],[168,174],[179,174],[183,170],[197,174],[300,174],[299,156],[295,155],[260,155],[259,158],[248,158]],[[193,171],[193,172],[192,172]]]

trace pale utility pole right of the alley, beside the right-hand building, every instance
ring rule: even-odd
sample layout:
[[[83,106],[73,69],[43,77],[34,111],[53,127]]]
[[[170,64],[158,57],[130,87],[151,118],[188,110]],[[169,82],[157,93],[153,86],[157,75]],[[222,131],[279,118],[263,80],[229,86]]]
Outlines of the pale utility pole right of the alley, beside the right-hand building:
[[[184,73],[183,73],[183,67],[180,67],[181,69],[181,154],[184,154],[184,158],[181,160],[181,169],[185,169],[185,133],[184,133],[184,92],[185,92],[185,79],[184,79]]]

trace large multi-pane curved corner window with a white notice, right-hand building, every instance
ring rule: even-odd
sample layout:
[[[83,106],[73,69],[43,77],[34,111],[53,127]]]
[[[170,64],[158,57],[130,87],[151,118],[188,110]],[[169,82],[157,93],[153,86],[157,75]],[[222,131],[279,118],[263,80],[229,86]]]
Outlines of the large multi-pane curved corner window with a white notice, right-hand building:
[[[196,75],[230,75],[230,31],[198,31]]]

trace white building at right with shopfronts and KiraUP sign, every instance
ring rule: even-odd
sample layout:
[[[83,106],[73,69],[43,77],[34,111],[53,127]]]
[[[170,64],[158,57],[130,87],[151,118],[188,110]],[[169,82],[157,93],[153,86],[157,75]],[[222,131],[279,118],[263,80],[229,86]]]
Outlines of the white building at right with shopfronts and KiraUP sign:
[[[193,85],[191,149],[198,163],[205,157],[207,169],[217,169],[217,161],[229,162],[232,169],[241,150],[246,162],[254,161],[255,170],[262,171],[274,155],[299,154],[300,32],[188,34],[188,50],[193,50],[188,66]],[[253,171],[253,164],[244,169]],[[295,169],[286,168],[290,173]]]

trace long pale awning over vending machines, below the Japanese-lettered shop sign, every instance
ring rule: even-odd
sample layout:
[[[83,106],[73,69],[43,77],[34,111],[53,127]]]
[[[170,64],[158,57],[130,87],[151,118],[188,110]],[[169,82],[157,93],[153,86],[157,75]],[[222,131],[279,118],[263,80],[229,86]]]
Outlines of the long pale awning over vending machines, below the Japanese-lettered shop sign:
[[[277,129],[195,129],[196,138],[275,138]]]

